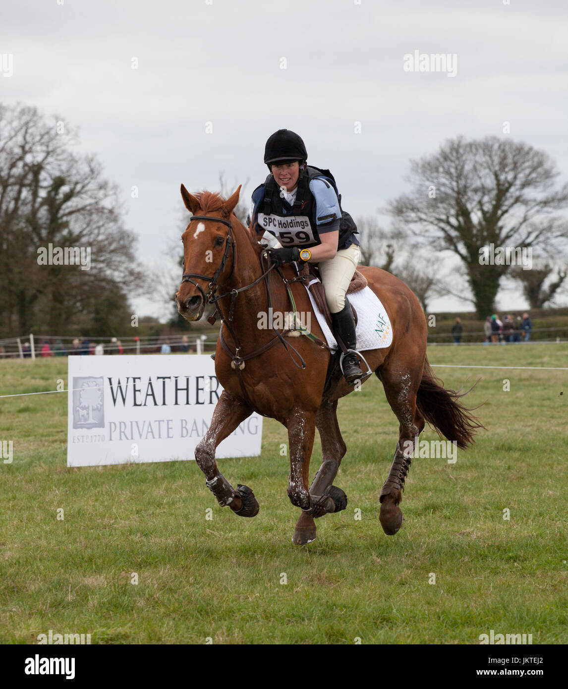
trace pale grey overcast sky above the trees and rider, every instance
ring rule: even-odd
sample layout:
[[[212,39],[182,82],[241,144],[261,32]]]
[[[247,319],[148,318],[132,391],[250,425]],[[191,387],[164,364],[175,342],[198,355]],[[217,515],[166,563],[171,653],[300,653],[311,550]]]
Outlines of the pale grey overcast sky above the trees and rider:
[[[122,189],[140,260],[159,268],[181,234],[180,183],[216,191],[223,170],[230,187],[249,180],[248,203],[267,174],[265,141],[282,127],[332,169],[354,216],[408,189],[411,158],[458,134],[503,136],[504,121],[566,181],[568,3],[505,3],[2,0],[0,55],[13,55],[13,74],[0,75],[0,97],[79,127],[81,147]],[[456,76],[405,72],[415,50],[456,54]],[[142,315],[160,315],[132,297]],[[507,291],[498,305],[525,302]],[[460,308],[472,310],[429,305]]]

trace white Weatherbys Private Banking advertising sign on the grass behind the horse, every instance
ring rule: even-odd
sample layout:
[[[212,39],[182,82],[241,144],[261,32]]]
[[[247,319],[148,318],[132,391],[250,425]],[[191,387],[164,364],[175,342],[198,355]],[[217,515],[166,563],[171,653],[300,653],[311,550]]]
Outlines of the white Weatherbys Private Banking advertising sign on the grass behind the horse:
[[[223,388],[208,355],[70,356],[67,466],[193,460]],[[260,455],[253,413],[216,457]]]

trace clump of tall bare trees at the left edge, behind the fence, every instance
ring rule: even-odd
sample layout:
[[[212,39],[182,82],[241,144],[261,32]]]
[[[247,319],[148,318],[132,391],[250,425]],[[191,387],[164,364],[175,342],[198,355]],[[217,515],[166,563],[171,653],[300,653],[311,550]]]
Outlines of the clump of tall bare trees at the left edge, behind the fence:
[[[8,334],[96,329],[101,299],[123,319],[125,288],[141,284],[116,185],[94,156],[74,152],[76,143],[61,117],[0,105],[0,313]],[[50,246],[88,250],[90,265],[43,265],[39,254]]]

